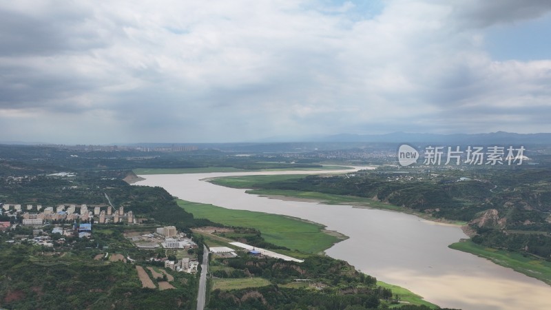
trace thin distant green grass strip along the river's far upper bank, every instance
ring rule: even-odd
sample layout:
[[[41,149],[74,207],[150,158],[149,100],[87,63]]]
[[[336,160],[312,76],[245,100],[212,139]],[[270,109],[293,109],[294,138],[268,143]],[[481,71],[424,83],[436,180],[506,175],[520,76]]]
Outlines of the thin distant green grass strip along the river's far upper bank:
[[[202,168],[137,168],[132,172],[136,175],[146,174],[205,174],[209,172],[262,172],[262,171],[316,171],[316,170],[339,170],[339,169],[353,169],[352,167],[324,165],[322,167],[311,168],[281,168],[281,169],[238,169],[234,167],[202,167]]]

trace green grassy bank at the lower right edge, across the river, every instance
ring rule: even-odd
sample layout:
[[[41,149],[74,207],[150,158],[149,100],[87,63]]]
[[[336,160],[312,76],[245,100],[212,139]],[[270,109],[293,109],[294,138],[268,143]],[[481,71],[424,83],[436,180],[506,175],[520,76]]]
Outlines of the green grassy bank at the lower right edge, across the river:
[[[537,278],[551,285],[551,262],[538,260],[530,256],[523,256],[517,252],[503,251],[477,245],[472,241],[455,242],[449,245],[451,249],[457,249],[482,258],[491,260],[497,265],[508,267],[514,271]]]

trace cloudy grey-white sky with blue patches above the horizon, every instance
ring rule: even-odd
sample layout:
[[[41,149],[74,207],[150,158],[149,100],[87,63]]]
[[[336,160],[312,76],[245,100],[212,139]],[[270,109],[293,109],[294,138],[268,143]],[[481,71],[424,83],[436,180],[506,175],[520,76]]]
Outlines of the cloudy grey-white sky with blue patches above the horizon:
[[[551,132],[550,11],[549,0],[1,1],[0,141]]]

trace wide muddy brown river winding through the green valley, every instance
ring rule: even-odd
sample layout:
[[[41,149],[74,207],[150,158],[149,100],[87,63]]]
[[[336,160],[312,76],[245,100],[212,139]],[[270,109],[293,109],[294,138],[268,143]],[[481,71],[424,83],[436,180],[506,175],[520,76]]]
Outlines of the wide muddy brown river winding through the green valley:
[[[466,235],[455,225],[410,214],[346,205],[278,200],[205,182],[204,178],[322,172],[228,172],[145,175],[136,185],[163,187],[173,196],[228,209],[263,211],[311,220],[350,238],[326,254],[378,280],[406,287],[440,307],[551,309],[551,287],[447,246]]]

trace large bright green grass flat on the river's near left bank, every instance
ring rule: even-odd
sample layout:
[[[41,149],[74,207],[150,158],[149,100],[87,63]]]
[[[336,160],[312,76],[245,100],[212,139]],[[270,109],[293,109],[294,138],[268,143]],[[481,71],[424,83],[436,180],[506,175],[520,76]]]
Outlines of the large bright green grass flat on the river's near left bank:
[[[194,214],[196,218],[207,218],[229,226],[256,228],[260,230],[262,237],[267,242],[289,249],[319,253],[342,240],[324,234],[322,225],[306,223],[289,216],[225,209],[214,205],[190,203],[185,200],[177,200],[177,202],[180,207]]]

